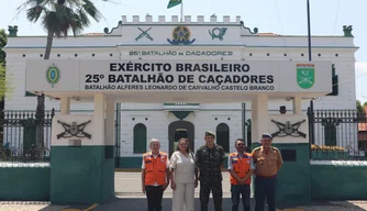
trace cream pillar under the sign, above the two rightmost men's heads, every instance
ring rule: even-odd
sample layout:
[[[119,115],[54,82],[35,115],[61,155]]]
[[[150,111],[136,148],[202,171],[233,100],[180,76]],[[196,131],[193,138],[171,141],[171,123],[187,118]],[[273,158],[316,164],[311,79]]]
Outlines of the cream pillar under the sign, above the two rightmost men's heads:
[[[262,133],[269,133],[268,96],[257,95],[252,101],[252,142],[259,143]]]

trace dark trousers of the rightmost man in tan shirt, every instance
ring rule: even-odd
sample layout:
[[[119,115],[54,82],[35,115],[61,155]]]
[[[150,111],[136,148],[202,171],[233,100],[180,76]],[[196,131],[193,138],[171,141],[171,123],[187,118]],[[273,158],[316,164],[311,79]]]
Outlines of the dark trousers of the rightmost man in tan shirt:
[[[268,211],[276,211],[275,200],[277,192],[277,177],[273,178],[264,178],[256,177],[255,178],[255,211],[264,211],[265,206],[265,197],[268,202]]]

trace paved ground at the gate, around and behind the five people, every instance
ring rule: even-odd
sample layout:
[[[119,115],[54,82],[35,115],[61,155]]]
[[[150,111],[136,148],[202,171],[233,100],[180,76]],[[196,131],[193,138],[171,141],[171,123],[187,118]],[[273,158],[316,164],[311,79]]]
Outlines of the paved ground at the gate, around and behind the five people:
[[[231,197],[229,174],[223,173],[223,211],[231,211]],[[141,191],[140,173],[115,173],[115,192],[116,198],[100,204],[96,208],[92,204],[49,204],[49,202],[8,202],[0,201],[0,211],[145,211],[146,198]],[[173,191],[168,188],[164,195],[163,211],[171,210]],[[196,189],[196,210],[200,211],[198,196],[199,189]],[[254,202],[254,201],[253,201]],[[88,209],[90,208],[90,209]],[[213,211],[212,200],[209,203],[209,210]],[[242,208],[242,207],[241,207]],[[313,202],[307,207],[286,208],[279,207],[279,211],[366,211],[367,201],[335,201],[335,202]],[[267,211],[267,210],[265,210]]]

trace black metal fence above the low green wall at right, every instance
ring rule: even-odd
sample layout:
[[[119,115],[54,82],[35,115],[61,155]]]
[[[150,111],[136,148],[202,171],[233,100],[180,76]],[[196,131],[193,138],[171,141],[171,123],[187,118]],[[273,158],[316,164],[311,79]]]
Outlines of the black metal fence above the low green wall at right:
[[[366,159],[367,119],[357,110],[308,108],[311,159]]]

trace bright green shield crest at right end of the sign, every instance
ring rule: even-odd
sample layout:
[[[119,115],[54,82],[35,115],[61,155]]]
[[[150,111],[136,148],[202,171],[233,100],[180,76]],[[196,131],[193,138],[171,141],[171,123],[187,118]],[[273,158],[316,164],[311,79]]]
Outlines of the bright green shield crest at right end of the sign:
[[[297,84],[302,89],[314,85],[314,64],[297,64]]]

